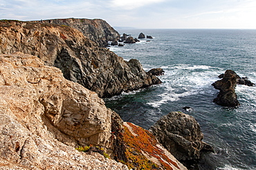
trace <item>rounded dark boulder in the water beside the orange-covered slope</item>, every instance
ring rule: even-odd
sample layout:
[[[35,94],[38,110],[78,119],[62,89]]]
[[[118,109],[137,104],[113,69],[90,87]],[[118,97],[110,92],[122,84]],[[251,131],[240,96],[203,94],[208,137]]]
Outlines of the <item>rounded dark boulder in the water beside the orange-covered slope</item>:
[[[199,123],[188,114],[170,112],[161,117],[149,131],[180,161],[199,159],[201,151],[212,151],[212,147],[202,141]]]

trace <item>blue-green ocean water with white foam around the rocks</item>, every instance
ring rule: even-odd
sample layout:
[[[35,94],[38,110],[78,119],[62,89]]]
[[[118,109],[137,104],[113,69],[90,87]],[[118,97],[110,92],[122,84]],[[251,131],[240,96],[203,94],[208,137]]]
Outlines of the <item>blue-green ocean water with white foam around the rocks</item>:
[[[256,83],[256,30],[118,32],[153,36],[110,50],[127,61],[138,59],[146,71],[161,67],[165,75],[161,85],[106,98],[107,107],[145,129],[170,111],[183,111],[196,118],[215,150],[203,155],[199,169],[256,169],[256,87],[237,85],[241,105],[232,109],[212,103],[218,90],[211,85],[229,69]]]

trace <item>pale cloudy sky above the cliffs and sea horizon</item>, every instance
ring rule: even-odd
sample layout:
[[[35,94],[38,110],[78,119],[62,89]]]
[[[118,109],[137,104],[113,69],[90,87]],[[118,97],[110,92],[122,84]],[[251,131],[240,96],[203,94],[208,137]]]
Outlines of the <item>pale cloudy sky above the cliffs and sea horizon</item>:
[[[256,0],[0,0],[0,19],[104,19],[113,27],[256,29]]]

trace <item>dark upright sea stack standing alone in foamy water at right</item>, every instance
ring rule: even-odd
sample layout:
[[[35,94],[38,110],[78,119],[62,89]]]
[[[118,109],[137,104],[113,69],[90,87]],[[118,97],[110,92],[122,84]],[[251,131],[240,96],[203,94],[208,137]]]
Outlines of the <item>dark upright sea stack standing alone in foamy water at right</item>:
[[[237,100],[237,94],[235,94],[235,87],[239,78],[234,71],[226,70],[220,81],[212,83],[215,89],[219,89],[219,94],[213,102],[225,107],[237,107],[239,101]]]

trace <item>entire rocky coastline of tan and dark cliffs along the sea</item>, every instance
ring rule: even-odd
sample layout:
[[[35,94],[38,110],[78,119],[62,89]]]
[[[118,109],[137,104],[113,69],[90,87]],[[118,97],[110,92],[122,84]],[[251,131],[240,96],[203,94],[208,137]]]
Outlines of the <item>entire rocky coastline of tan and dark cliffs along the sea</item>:
[[[150,132],[104,105],[101,97],[157,85],[164,73],[105,48],[119,38],[100,19],[0,21],[1,168],[187,169],[179,160],[212,151],[192,116],[172,112]],[[75,150],[89,145],[114,160]]]

